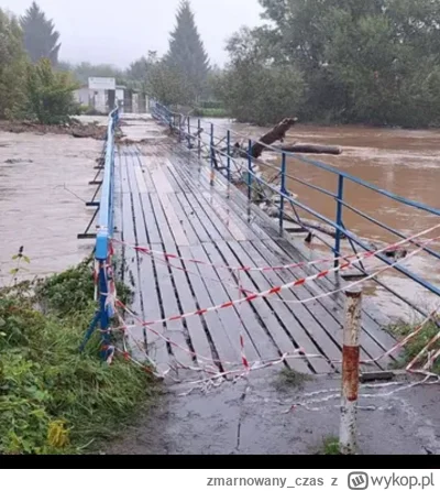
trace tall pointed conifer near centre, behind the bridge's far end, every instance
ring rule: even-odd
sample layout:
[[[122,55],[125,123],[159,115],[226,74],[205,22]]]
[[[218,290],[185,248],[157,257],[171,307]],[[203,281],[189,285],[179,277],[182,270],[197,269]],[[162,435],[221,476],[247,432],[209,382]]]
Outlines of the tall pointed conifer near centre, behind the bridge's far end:
[[[206,87],[209,59],[198,33],[194,13],[188,0],[183,0],[176,15],[177,24],[170,34],[169,51],[165,63],[180,73],[186,89],[197,99]]]

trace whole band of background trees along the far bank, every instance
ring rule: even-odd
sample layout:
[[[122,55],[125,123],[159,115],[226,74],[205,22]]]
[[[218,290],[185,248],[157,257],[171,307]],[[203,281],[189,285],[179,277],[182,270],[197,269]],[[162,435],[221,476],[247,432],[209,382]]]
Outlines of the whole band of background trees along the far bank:
[[[293,116],[329,124],[440,126],[440,0],[258,1],[266,23],[230,39],[224,69],[210,66],[187,0],[167,54],[148,51],[127,70],[59,63],[59,34],[35,3],[21,22],[1,12],[0,118],[30,98],[28,52],[31,63],[48,58],[81,84],[114,77],[200,116],[264,126]],[[220,108],[201,107],[204,98]]]

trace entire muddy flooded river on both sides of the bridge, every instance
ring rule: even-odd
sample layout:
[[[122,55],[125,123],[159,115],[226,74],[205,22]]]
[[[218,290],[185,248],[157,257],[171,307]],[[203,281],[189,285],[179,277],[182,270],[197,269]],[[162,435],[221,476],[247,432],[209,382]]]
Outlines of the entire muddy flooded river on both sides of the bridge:
[[[230,124],[227,120],[216,123],[231,126],[253,138],[265,132],[265,129],[246,124]],[[217,131],[220,135],[221,130]],[[398,195],[440,208],[440,131],[299,126],[290,131],[287,141],[342,146],[342,155],[315,159]],[[11,257],[20,246],[24,246],[31,258],[28,266],[31,276],[63,271],[90,251],[92,243],[78,241],[76,236],[84,231],[92,214],[82,200],[88,200],[95,190],[87,183],[94,177],[95,159],[101,148],[102,142],[90,139],[0,133],[0,284],[10,281]],[[267,154],[266,159],[279,164],[276,155]],[[337,189],[336,175],[310,164],[289,159],[288,172],[326,189]],[[289,188],[300,201],[334,219],[332,198],[293,182]],[[345,183],[344,199],[408,234],[439,221],[353,183]],[[344,225],[377,243],[396,241],[394,236],[349,210],[344,211]],[[344,248],[348,250],[346,244]],[[431,282],[440,280],[440,263],[426,254],[410,259],[408,268]],[[400,294],[422,305],[432,302],[431,296],[400,274],[387,273],[384,277]],[[402,304],[382,287],[372,284],[369,293],[391,316],[403,314]]]

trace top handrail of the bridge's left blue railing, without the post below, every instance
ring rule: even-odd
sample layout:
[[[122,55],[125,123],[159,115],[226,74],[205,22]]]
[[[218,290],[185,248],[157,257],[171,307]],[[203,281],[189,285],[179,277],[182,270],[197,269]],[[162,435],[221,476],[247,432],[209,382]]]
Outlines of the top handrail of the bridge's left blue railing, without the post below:
[[[95,257],[106,260],[108,257],[109,239],[112,237],[113,223],[113,176],[114,176],[114,130],[119,120],[119,111],[114,109],[109,114],[107,128],[106,159],[101,198],[99,203],[98,232]]]

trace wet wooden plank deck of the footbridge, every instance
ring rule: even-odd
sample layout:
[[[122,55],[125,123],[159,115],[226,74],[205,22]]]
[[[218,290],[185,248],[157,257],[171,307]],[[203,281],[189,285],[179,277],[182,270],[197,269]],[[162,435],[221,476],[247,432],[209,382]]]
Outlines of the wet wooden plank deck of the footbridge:
[[[154,121],[145,122],[157,130]],[[305,261],[300,247],[280,237],[270,218],[224,178],[210,185],[209,170],[183,145],[157,139],[141,148],[120,145],[116,155],[116,227],[127,243],[183,258],[233,266],[278,265]],[[133,310],[144,320],[176,316],[240,298],[240,288],[265,291],[316,272],[314,266],[283,271],[237,272],[122,248],[124,280],[135,291]],[[251,303],[155,325],[156,334],[133,327],[133,352],[145,352],[166,370],[240,365],[240,336],[250,362],[278,359],[302,348],[321,358],[287,359],[304,373],[340,371],[343,295],[302,301],[342,286],[330,276]],[[166,342],[162,336],[172,342]],[[394,345],[376,317],[363,314],[362,358],[376,358]],[[369,365],[384,369],[393,358]]]

